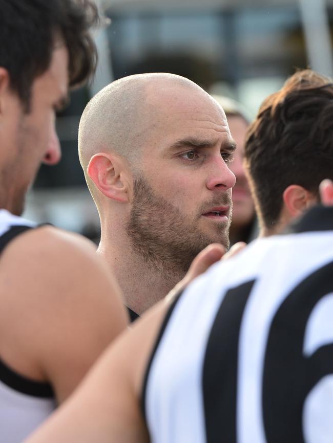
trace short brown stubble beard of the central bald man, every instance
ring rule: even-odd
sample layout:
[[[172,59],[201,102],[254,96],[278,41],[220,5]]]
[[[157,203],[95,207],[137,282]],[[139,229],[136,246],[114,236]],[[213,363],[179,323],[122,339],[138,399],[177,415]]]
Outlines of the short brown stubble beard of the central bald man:
[[[210,207],[230,205],[228,194],[210,202]],[[207,203],[205,204],[207,208]],[[203,211],[204,212],[204,211]],[[198,219],[203,213],[198,211]],[[207,235],[181,211],[154,194],[147,181],[139,178],[134,183],[134,198],[127,224],[127,234],[135,251],[149,268],[163,273],[164,278],[181,278],[189,269],[195,256],[213,242],[229,246],[230,223],[216,224],[216,233]]]

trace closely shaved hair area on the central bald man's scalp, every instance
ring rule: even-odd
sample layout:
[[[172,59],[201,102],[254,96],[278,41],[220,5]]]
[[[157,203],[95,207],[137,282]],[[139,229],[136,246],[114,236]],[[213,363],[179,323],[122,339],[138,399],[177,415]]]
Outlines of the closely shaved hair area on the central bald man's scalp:
[[[79,125],[79,159],[90,191],[87,175],[90,159],[98,152],[118,154],[135,170],[140,168],[140,152],[156,125],[163,124],[161,103],[175,95],[175,87],[196,90],[209,97],[197,84],[167,73],[138,74],[110,83],[86,106]],[[164,109],[164,112],[163,112]],[[156,123],[156,124],[155,124]]]

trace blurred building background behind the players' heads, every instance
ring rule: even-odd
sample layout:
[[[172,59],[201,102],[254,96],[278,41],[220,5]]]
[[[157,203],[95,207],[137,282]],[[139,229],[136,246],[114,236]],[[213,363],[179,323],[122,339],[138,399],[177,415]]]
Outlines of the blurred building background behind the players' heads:
[[[77,129],[90,97],[110,81],[179,74],[236,99],[252,118],[297,68],[332,74],[333,0],[98,0],[98,7],[111,24],[95,32],[96,77],[57,116],[62,160],[40,168],[24,213],[96,242],[99,219],[78,161]]]

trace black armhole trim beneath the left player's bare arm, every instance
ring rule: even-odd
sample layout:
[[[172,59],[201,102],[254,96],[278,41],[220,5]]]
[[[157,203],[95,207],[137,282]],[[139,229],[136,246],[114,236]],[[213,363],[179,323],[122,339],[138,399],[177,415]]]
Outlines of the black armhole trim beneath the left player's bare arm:
[[[54,397],[49,383],[37,382],[14,372],[0,360],[0,381],[17,392],[41,398]]]

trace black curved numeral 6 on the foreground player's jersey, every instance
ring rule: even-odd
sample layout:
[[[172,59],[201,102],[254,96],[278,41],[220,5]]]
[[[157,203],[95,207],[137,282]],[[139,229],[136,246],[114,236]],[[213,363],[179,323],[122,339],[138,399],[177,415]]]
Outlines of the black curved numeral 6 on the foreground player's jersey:
[[[319,380],[333,374],[333,343],[310,356],[303,353],[308,319],[317,303],[333,293],[332,275],[333,262],[309,275],[285,298],[270,325],[262,391],[268,443],[304,443],[306,397]]]

